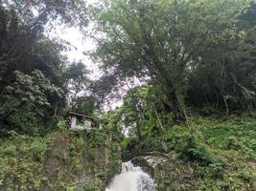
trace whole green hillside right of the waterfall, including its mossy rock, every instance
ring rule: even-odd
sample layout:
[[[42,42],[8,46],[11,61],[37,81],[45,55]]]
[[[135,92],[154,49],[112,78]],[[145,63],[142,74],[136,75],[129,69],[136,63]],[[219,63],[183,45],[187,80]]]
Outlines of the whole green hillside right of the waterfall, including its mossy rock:
[[[123,158],[149,171],[158,190],[256,190],[256,119],[191,117],[143,140],[127,138]],[[134,157],[135,156],[135,157]]]

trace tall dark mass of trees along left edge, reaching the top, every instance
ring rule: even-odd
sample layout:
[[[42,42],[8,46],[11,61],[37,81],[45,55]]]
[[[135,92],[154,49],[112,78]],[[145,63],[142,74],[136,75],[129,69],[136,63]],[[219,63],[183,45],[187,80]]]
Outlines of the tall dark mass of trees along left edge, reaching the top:
[[[0,131],[43,134],[65,106],[66,60],[62,43],[44,35],[45,25],[59,19],[78,24],[83,1],[0,2]],[[84,22],[87,22],[84,19]]]

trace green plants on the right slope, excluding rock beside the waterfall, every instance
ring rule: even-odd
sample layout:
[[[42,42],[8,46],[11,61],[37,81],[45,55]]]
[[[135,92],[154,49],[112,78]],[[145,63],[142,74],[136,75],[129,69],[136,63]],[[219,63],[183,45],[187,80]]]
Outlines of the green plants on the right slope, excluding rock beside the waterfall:
[[[163,120],[165,128],[159,134],[147,129],[148,137],[142,140],[125,138],[123,159],[155,151],[172,154],[193,168],[195,190],[252,189],[256,179],[255,118],[194,116],[190,121],[187,127],[169,126],[168,119]]]

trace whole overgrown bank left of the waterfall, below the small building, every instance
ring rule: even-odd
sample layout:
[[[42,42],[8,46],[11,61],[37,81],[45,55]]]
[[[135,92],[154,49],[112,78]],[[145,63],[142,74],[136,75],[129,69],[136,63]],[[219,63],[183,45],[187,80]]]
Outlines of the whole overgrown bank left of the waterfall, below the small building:
[[[0,147],[0,190],[105,190],[120,171],[111,133],[56,132],[49,138],[13,135]]]

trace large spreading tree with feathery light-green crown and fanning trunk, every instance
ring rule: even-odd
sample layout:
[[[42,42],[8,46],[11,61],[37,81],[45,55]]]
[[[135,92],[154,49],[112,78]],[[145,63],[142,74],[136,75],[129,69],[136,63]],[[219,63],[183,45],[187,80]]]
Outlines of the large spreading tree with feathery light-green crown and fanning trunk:
[[[249,1],[105,1],[94,8],[99,32],[95,59],[120,80],[150,76],[161,87],[176,121],[187,122],[187,72],[213,44],[232,35]]]

